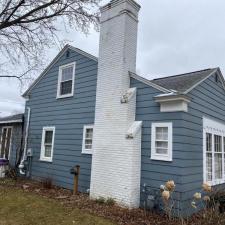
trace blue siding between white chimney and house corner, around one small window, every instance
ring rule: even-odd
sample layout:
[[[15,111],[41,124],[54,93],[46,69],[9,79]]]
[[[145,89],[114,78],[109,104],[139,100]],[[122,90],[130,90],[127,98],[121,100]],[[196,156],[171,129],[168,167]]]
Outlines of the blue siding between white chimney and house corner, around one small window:
[[[187,152],[182,151],[183,146],[188,146],[186,131],[183,127],[183,113],[161,113],[159,103],[153,99],[154,96],[162,94],[159,90],[152,88],[140,81],[131,79],[131,87],[137,87],[136,121],[143,121],[142,125],[142,156],[141,156],[141,205],[145,200],[143,193],[144,185],[148,189],[159,194],[160,185],[173,179],[176,183],[174,193],[175,211],[180,213],[180,196],[183,192],[182,176],[191,173],[185,170],[184,163]],[[151,160],[151,124],[153,122],[172,122],[173,123],[173,161]],[[158,197],[157,196],[157,197]]]

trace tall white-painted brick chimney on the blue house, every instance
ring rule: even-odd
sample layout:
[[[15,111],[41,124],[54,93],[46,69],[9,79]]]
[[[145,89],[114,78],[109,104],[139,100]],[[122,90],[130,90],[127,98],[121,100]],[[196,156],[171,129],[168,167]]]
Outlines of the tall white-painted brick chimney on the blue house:
[[[141,122],[135,121],[137,25],[134,0],[112,0],[101,8],[95,110],[92,198],[114,198],[133,208],[140,202]]]

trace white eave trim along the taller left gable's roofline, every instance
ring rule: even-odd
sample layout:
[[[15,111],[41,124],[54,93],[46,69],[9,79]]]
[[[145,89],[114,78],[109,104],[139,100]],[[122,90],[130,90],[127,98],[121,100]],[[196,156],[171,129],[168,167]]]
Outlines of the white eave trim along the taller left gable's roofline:
[[[38,82],[42,79],[42,77],[52,68],[52,66],[55,64],[55,62],[68,50],[71,49],[87,58],[90,58],[96,62],[98,62],[98,58],[82,51],[79,48],[75,48],[71,45],[66,45],[59,53],[58,55],[51,61],[51,63],[47,66],[47,68],[37,77],[37,79],[31,84],[31,86],[24,92],[24,94],[22,95],[22,97],[26,98],[27,95],[30,93],[30,91],[38,84]]]

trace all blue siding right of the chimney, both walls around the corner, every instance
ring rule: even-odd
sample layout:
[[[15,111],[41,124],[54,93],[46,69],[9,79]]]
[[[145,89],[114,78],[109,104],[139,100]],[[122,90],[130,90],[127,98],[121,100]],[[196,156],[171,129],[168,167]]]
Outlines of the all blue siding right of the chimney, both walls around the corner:
[[[159,190],[167,180],[174,180],[174,199],[177,215],[190,215],[193,194],[201,190],[203,183],[203,116],[225,123],[225,92],[221,82],[216,83],[211,76],[193,89],[188,112],[161,113],[153,97],[160,91],[135,79],[131,87],[137,87],[136,120],[143,121],[142,128],[142,168],[141,190],[143,185],[150,190]],[[151,123],[173,123],[173,161],[151,160]],[[154,192],[154,193],[156,193]],[[141,193],[141,201],[145,199]]]

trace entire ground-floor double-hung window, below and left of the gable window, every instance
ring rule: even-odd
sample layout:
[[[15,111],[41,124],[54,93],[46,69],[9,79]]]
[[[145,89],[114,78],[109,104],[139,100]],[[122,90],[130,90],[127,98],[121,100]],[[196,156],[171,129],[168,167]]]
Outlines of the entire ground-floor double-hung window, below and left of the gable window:
[[[40,160],[52,162],[55,127],[43,127]]]

